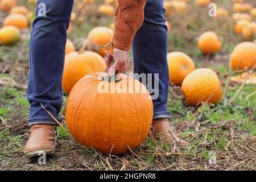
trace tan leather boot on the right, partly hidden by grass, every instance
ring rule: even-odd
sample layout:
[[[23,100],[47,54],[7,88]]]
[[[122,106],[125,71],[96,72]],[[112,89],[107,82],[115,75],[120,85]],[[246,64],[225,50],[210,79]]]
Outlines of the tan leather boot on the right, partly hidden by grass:
[[[167,118],[155,119],[152,122],[152,137],[157,140],[163,140],[166,143],[172,143],[176,141],[180,146],[188,146],[188,142],[181,140],[172,133],[170,123]]]

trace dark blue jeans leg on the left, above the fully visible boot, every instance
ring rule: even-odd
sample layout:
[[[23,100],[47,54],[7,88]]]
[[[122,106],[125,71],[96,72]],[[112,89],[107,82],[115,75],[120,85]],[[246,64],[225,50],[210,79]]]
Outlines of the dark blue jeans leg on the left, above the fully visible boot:
[[[57,123],[63,101],[62,76],[67,28],[73,0],[38,0],[30,40],[30,73],[27,98],[30,102],[28,126]],[[44,14],[44,10],[45,14]],[[61,122],[61,121],[60,121]]]

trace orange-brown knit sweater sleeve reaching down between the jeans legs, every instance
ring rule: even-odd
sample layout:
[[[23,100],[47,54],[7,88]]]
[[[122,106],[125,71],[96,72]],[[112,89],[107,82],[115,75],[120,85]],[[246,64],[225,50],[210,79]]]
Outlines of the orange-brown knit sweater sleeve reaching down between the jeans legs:
[[[118,0],[115,11],[114,48],[128,51],[144,20],[146,0]]]

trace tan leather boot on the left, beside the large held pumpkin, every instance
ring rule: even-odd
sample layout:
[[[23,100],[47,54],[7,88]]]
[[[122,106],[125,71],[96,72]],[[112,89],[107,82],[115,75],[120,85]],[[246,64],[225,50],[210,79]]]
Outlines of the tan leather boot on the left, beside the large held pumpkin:
[[[46,154],[54,154],[56,139],[54,125],[32,125],[24,154],[29,158],[37,156],[42,151]]]

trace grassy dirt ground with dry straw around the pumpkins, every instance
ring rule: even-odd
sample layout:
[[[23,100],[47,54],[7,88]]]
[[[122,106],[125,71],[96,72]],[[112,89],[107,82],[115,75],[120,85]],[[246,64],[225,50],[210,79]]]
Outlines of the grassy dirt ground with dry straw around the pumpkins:
[[[230,9],[230,3],[222,1],[220,4]],[[188,11],[187,14],[172,17],[169,51],[187,53],[197,67],[212,68],[221,81],[225,80],[229,54],[242,38],[234,38],[230,29],[232,23],[226,23],[227,20],[209,20],[203,15],[199,17],[203,10],[197,10],[197,13],[192,9]],[[5,16],[5,13],[0,13],[0,24]],[[77,43],[76,47],[81,42],[80,35],[85,37],[90,27],[102,24],[108,26],[113,21],[112,18],[106,19],[100,15],[89,14],[86,17],[87,26],[77,25],[69,35]],[[208,23],[202,26],[200,23],[206,19],[209,20]],[[196,47],[199,33],[205,30],[217,31],[225,42],[222,51],[209,59],[201,55]],[[217,106],[205,105],[201,108],[199,114],[179,133],[180,137],[188,140],[188,147],[179,147],[176,143],[161,143],[148,137],[134,152],[120,156],[105,155],[81,146],[69,138],[63,129],[58,128],[56,154],[47,156],[45,165],[38,164],[38,158],[27,159],[23,149],[29,136],[26,123],[29,111],[26,84],[30,31],[31,28],[22,32],[22,41],[16,46],[0,46],[0,170],[256,169],[256,97],[245,100],[246,96],[256,90],[255,85],[245,86],[230,105],[225,105],[223,99]],[[226,99],[233,98],[238,88],[240,85],[230,84]],[[60,113],[62,119],[65,119],[66,100],[67,96],[64,97]],[[196,111],[195,107],[187,106],[179,86],[171,85],[168,105],[172,113],[171,126],[175,131]]]

